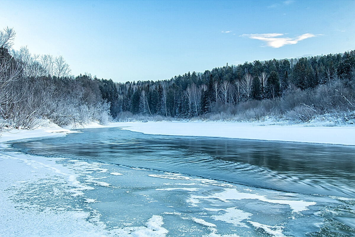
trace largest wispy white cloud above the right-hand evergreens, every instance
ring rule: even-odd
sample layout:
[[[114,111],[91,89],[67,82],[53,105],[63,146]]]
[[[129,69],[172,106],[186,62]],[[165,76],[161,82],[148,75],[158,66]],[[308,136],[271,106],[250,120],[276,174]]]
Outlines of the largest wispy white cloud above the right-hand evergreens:
[[[280,37],[284,36],[285,34],[282,33],[269,33],[269,34],[242,34],[244,37],[249,37],[251,39],[258,39],[261,41],[266,42],[267,46],[273,48],[280,48],[287,44],[297,44],[299,41],[315,37],[314,34],[306,33],[295,38],[290,37]]]

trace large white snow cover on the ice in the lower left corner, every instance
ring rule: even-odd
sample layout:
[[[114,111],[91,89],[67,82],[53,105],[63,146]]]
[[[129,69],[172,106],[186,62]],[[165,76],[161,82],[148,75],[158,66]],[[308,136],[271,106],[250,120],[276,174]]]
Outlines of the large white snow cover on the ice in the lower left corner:
[[[100,174],[106,169],[100,169],[95,162],[73,160],[64,166],[59,160],[65,159],[0,153],[0,236],[166,236],[168,230],[162,227],[163,217],[158,215],[151,216],[144,226],[108,230],[98,218],[99,213],[93,215],[94,210],[79,209],[76,204],[80,200],[87,204],[100,202],[82,191],[95,189],[88,186],[90,183],[110,185],[87,174],[87,170]],[[80,182],[79,176],[88,179]],[[46,191],[33,195],[41,187]]]

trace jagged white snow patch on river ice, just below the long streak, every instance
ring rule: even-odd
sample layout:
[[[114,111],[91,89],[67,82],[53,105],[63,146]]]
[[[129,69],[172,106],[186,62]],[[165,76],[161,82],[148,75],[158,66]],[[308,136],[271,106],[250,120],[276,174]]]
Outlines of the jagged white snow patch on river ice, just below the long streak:
[[[213,215],[211,217],[216,221],[224,221],[227,223],[231,223],[235,226],[241,226],[241,227],[248,228],[248,226],[241,221],[246,220],[246,219],[250,219],[250,216],[252,216],[253,214],[243,211],[243,210],[239,210],[236,207],[227,208],[224,211],[225,211],[224,214]]]

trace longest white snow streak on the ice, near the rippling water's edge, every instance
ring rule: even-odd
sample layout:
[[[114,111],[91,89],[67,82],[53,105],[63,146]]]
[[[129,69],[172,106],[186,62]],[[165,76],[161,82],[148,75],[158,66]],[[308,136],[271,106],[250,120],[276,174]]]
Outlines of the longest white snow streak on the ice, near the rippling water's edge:
[[[275,204],[286,204],[289,205],[293,212],[308,210],[307,206],[315,205],[313,201],[304,200],[279,200],[279,199],[268,199],[266,196],[253,194],[253,193],[242,193],[237,189],[225,189],[221,193],[215,193],[209,196],[195,196],[196,199],[213,199],[217,198],[219,200],[230,202],[229,200],[241,200],[241,199],[258,199],[260,201],[265,201],[267,203]]]

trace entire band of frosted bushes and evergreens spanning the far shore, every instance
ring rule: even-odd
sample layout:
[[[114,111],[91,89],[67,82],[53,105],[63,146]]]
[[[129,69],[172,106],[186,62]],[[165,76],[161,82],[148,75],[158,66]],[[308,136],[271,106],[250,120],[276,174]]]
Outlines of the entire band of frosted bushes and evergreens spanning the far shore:
[[[209,119],[355,122],[355,50],[255,60],[167,80],[114,82],[71,75],[62,56],[13,50],[15,31],[0,31],[0,128],[33,129],[98,121]],[[121,79],[120,79],[121,80]]]

